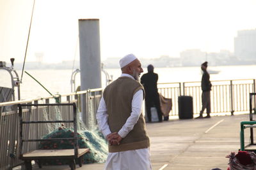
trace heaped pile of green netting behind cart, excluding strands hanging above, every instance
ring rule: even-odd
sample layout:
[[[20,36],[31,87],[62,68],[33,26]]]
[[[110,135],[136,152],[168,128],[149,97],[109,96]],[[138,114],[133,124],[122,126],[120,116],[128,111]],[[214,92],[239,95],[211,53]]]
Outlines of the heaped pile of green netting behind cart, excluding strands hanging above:
[[[44,136],[43,139],[52,138],[73,138],[74,129],[65,128],[63,125],[58,129],[52,131],[50,134]],[[59,140],[59,141],[42,141],[39,148],[42,150],[61,150],[61,149],[74,149],[74,141],[72,140]],[[108,143],[104,139],[101,132],[95,129],[94,131],[79,131],[77,132],[78,148],[89,148],[90,152],[84,154],[84,164],[89,163],[103,163],[106,161],[108,155]],[[77,162],[77,160],[76,160]],[[47,160],[43,164],[68,164],[67,160]]]

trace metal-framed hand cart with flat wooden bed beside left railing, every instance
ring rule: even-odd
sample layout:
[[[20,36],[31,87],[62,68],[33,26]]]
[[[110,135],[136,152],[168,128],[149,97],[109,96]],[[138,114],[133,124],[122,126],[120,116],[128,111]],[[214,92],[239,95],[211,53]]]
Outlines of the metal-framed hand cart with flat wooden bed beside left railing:
[[[24,121],[22,119],[22,106],[73,106],[74,119],[73,120],[47,120],[47,121]],[[76,104],[75,103],[56,103],[56,104],[18,104],[19,118],[20,118],[20,148],[19,158],[24,160],[26,169],[31,170],[31,160],[36,160],[38,166],[41,168],[40,160],[49,159],[67,159],[69,166],[72,170],[76,169],[75,159],[78,159],[79,166],[83,164],[83,155],[89,152],[88,148],[77,147],[77,118],[76,118]],[[73,123],[74,124],[74,138],[52,138],[52,139],[23,139],[23,124],[44,124],[44,123]],[[24,142],[35,141],[56,141],[56,140],[69,140],[73,141],[74,149],[65,150],[33,150],[32,152],[22,153],[22,145]]]

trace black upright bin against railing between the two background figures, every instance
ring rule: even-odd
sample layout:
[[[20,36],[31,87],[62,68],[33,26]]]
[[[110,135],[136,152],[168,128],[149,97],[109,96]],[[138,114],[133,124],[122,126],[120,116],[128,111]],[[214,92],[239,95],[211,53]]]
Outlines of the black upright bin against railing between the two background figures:
[[[191,96],[179,96],[179,118],[193,118],[193,98]]]

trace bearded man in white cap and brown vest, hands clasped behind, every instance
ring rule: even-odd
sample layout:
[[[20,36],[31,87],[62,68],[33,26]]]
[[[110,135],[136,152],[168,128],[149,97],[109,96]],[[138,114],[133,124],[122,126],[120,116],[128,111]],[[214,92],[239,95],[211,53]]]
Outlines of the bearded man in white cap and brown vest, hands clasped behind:
[[[97,111],[100,131],[109,143],[105,170],[151,170],[150,141],[141,113],[144,89],[138,81],[143,73],[133,54],[119,61],[122,74],[103,92]]]

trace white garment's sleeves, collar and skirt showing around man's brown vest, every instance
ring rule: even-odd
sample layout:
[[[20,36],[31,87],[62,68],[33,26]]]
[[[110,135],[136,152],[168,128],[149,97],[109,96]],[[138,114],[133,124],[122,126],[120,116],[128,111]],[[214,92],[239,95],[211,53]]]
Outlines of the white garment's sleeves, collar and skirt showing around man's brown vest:
[[[121,76],[129,76],[129,74],[121,74]],[[133,78],[134,79],[134,78]],[[130,117],[127,118],[122,129],[118,131],[118,134],[125,138],[127,134],[133,129],[134,125],[137,123],[142,108],[143,102],[143,90],[138,90],[132,97],[132,112]],[[111,133],[108,125],[108,113],[106,108],[106,103],[104,98],[100,99],[99,108],[97,111],[97,122],[100,131],[106,138],[108,134]],[[143,148],[139,150],[128,150],[125,152],[114,152],[108,153],[108,159],[104,169],[106,170],[150,170],[152,169],[150,164],[150,153],[149,148]]]

